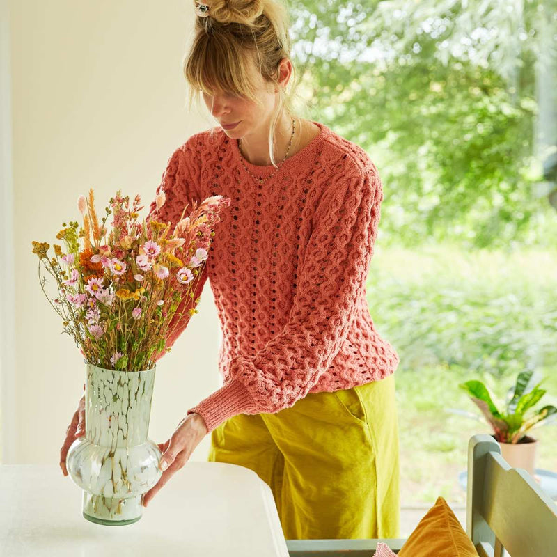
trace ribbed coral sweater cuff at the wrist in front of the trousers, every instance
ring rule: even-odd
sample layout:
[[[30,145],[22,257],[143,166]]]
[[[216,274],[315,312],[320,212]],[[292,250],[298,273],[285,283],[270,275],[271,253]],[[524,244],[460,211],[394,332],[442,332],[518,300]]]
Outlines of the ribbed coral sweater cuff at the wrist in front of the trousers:
[[[228,418],[255,409],[256,403],[244,384],[236,379],[230,379],[196,407],[190,408],[187,413],[199,414],[205,420],[207,432],[210,433]]]

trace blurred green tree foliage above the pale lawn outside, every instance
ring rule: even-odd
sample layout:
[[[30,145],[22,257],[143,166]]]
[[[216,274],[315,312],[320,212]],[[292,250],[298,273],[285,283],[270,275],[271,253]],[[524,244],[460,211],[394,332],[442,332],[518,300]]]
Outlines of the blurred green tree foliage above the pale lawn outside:
[[[290,3],[308,116],[372,157],[389,242],[549,245],[533,130],[541,6],[555,3]]]

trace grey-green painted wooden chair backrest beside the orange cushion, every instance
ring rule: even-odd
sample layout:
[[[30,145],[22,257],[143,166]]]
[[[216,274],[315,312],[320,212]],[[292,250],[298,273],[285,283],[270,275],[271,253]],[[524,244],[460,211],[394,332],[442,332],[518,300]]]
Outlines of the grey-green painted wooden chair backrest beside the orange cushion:
[[[466,533],[480,557],[557,555],[557,505],[525,470],[511,468],[491,435],[468,444]]]

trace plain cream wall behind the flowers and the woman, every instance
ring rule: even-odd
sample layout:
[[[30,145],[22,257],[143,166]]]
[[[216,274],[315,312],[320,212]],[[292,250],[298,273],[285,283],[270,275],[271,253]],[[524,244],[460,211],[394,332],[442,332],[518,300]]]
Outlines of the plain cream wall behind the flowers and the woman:
[[[13,340],[2,339],[2,462],[58,463],[83,393],[84,363],[40,290],[31,241],[52,244],[62,221],[77,220],[77,197],[90,187],[100,210],[118,188],[149,203],[175,147],[216,121],[186,107],[181,66],[193,1],[1,2],[1,44],[9,56],[0,85],[10,83],[0,119],[3,217],[13,196],[15,262],[15,275],[0,275],[2,327],[13,331]],[[12,245],[7,231],[2,240]],[[2,258],[10,267],[9,251]],[[221,385],[221,334],[209,282],[198,310],[157,366],[149,431],[156,442]],[[206,460],[209,441],[192,460]]]

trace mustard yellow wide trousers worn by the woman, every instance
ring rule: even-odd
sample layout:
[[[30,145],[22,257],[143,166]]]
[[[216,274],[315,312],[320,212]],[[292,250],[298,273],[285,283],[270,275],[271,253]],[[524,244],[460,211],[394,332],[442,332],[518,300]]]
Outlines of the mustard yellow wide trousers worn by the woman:
[[[394,374],[233,416],[212,431],[208,460],[269,485],[287,540],[400,536]]]

